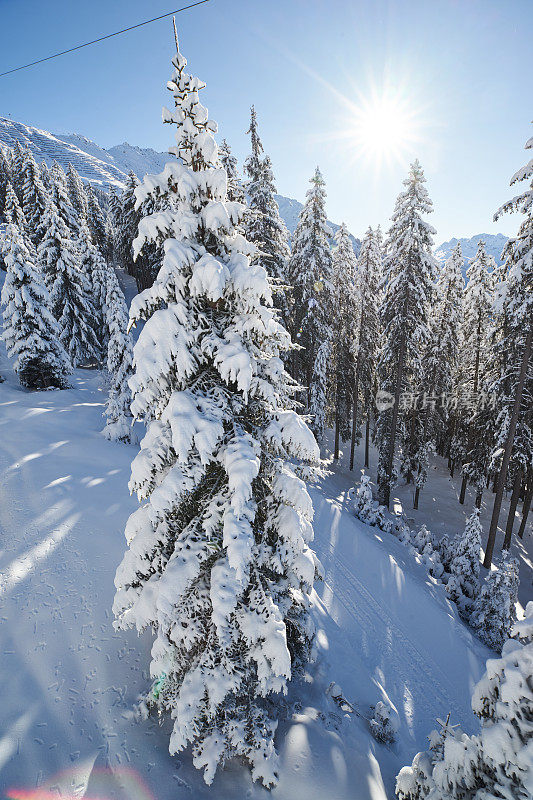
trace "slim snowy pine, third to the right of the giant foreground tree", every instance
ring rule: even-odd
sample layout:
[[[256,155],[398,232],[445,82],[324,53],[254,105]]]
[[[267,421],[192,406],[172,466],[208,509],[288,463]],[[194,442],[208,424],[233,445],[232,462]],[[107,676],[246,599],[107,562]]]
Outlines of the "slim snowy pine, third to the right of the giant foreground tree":
[[[350,411],[354,382],[354,331],[359,304],[356,298],[357,259],[348,228],[343,223],[335,234],[337,244],[331,262],[332,319],[331,402],[335,414],[334,458],[339,458],[340,439],[350,436]]]

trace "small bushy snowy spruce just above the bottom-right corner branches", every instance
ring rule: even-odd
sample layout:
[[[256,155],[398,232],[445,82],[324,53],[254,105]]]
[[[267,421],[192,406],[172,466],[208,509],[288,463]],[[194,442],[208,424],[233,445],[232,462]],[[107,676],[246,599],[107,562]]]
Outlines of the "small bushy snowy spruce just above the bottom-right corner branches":
[[[498,652],[516,622],[518,586],[518,561],[504,550],[497,568],[485,576],[470,616],[472,627]]]

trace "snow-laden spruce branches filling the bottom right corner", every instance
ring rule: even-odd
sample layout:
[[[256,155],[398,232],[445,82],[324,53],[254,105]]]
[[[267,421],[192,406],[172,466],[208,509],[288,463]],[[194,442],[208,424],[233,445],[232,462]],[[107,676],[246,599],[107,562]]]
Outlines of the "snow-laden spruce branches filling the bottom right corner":
[[[529,800],[533,796],[533,603],[501,658],[487,661],[472,709],[481,730],[442,723],[396,779],[399,800]],[[440,721],[440,720],[439,720]]]

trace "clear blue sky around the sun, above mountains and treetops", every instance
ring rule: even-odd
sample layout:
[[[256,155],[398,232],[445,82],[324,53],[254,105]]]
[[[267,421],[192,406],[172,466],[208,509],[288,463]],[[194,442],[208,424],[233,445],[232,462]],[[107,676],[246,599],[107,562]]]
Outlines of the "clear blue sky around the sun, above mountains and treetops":
[[[186,4],[186,0],[183,5]],[[179,0],[0,0],[0,72],[179,7]],[[387,226],[415,155],[440,243],[513,233],[492,222],[532,135],[532,0],[211,0],[178,15],[181,49],[239,161],[255,103],[280,193],[302,200],[316,164],[330,219]],[[0,114],[104,147],[172,144],[161,106],[171,20],[0,79]],[[411,141],[378,168],[349,133],[383,94]],[[355,110],[354,110],[355,109]],[[414,127],[413,127],[414,125]]]

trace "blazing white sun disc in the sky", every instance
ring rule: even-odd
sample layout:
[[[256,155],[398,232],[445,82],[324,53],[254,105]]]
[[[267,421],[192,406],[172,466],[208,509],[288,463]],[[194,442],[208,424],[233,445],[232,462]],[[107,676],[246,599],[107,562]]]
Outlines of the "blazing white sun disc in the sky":
[[[404,161],[418,141],[417,115],[392,93],[362,100],[353,109],[352,144],[377,165]]]

